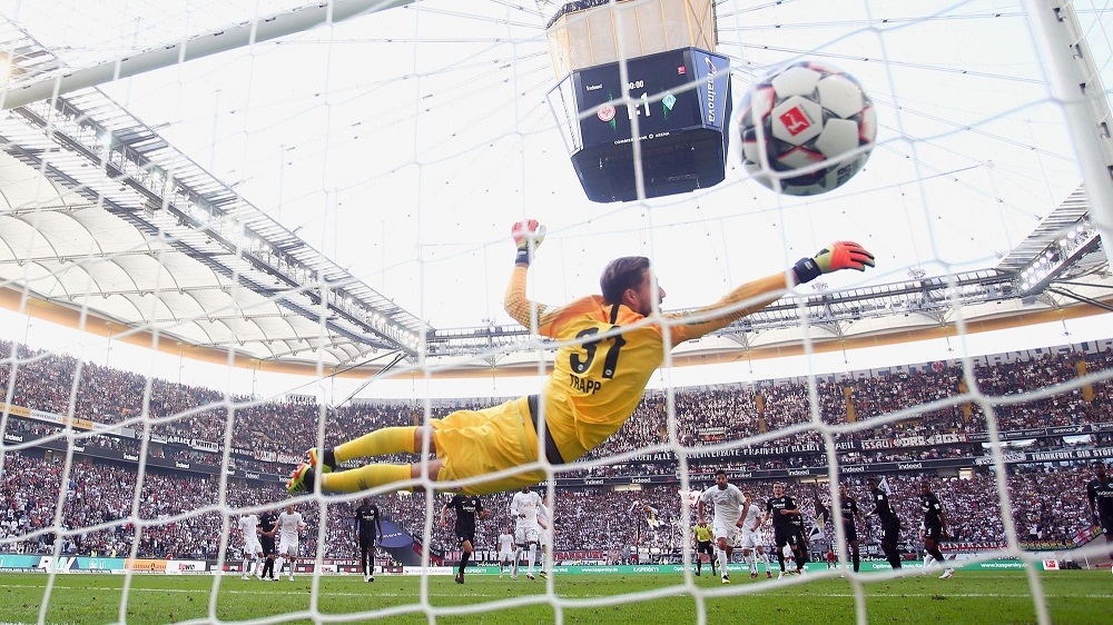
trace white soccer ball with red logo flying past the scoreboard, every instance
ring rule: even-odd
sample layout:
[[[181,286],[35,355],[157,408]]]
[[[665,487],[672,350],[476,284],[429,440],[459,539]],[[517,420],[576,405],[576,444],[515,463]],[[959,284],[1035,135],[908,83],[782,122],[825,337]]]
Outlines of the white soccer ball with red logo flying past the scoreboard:
[[[877,136],[874,103],[858,81],[814,61],[781,68],[755,83],[741,110],[738,123],[746,171],[790,196],[824,194],[845,183],[865,165]],[[830,162],[797,176],[768,173],[790,173],[823,161]]]

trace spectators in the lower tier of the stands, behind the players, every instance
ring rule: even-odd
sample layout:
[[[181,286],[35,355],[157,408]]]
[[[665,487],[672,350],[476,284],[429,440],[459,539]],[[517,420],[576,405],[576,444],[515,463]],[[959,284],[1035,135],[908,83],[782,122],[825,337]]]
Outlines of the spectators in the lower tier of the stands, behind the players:
[[[229,548],[240,546],[232,536],[235,518],[244,510],[277,509],[286,499],[285,490],[275,485],[246,480],[229,480],[225,510],[220,514],[220,483],[216,479],[148,470],[142,488],[136,494],[138,475],[134,467],[111,463],[89,462],[76,457],[65,476],[60,460],[35,458],[18,452],[4,455],[3,477],[0,478],[0,552],[21,550],[49,553],[53,549],[55,520],[61,505],[61,528],[65,554],[130,553],[139,530],[137,555],[140,557],[215,558],[223,536],[229,536]],[[917,542],[919,512],[918,485],[926,476],[890,475],[892,502],[904,519],[902,539]],[[1086,467],[1041,465],[1012,467],[1007,487],[1013,503],[1013,520],[1020,538],[1046,543],[1048,546],[1073,544],[1078,532],[1091,527],[1083,485],[1089,478]],[[935,493],[951,512],[954,540],[999,545],[1004,542],[999,498],[992,473],[978,473],[969,478],[928,478]],[[708,486],[708,482],[700,486]],[[755,502],[764,504],[771,493],[771,480],[740,482],[739,487],[754,493]],[[870,500],[859,478],[848,479],[849,493],[868,512]],[[59,492],[61,490],[61,498]],[[790,485],[808,519],[815,519],[815,500],[828,500],[826,486],[808,483]],[[545,494],[541,489],[542,495]],[[682,517],[680,493],[674,486],[652,486],[637,492],[602,488],[560,489],[555,497],[553,518],[555,546],[559,550],[608,549],[613,546],[642,545],[677,549],[682,527],[693,522],[693,508]],[[491,510],[480,520],[479,544],[493,544],[501,528],[511,524],[512,493],[483,497]],[[446,498],[433,495],[433,510],[439,513]],[[393,520],[418,542],[425,527],[426,496],[400,494],[378,496],[374,502],[384,517]],[[326,557],[351,557],[354,504],[331,503],[327,509]],[[648,514],[644,506],[656,509]],[[307,553],[316,549],[316,523],[319,507],[304,504],[298,509],[306,517],[309,530],[302,538]],[[224,525],[227,519],[227,526]],[[859,529],[870,536],[876,520],[864,517]],[[827,527],[828,533],[830,526]],[[771,529],[769,529],[771,532]],[[22,537],[22,539],[18,539]],[[771,534],[766,537],[771,543]],[[454,544],[450,527],[434,523],[431,545],[444,550]]]

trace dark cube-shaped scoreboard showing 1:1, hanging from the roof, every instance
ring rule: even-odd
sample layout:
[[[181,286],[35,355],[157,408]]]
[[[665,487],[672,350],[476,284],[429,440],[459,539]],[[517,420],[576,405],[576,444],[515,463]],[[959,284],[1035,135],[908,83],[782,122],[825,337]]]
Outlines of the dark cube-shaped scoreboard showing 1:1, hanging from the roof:
[[[726,57],[680,48],[571,72],[549,102],[580,183],[597,202],[638,199],[633,143],[646,197],[709,188],[726,176],[730,75]],[[638,136],[633,135],[637,119]]]

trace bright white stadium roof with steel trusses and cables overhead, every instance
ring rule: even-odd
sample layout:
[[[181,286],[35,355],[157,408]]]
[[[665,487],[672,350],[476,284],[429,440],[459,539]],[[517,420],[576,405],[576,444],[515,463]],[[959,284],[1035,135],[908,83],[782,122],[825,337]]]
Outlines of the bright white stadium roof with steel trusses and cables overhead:
[[[14,68],[11,93],[159,47],[308,26],[322,10],[9,4],[0,50]],[[375,3],[336,7],[356,4]],[[558,286],[543,300],[593,289],[601,258],[633,250],[679,285],[667,306],[695,307],[731,276],[777,270],[799,246],[827,242],[826,231],[873,235],[864,242],[878,272],[817,285],[692,353],[798,343],[804,331],[846,340],[938,328],[956,323],[958,304],[964,321],[1078,301],[1107,309],[1113,280],[1040,67],[1015,49],[974,62],[958,44],[905,48],[937,23],[994,50],[1015,48],[1014,37],[1031,47],[1014,32],[1023,14],[914,2],[839,21],[811,2],[786,4],[719,3],[720,51],[736,63],[736,88],[800,54],[845,63],[871,87],[881,143],[835,194],[775,197],[731,171],[698,194],[591,205],[543,103],[555,85],[543,16],[532,2],[429,1],[11,109],[0,119],[0,277],[136,330],[327,367],[381,353],[413,359],[423,337],[433,356],[518,361],[503,353],[533,341],[496,309],[493,264],[506,262],[502,232],[523,215],[552,226],[534,271]],[[870,33],[889,39],[863,48]],[[958,102],[956,89],[983,98]]]

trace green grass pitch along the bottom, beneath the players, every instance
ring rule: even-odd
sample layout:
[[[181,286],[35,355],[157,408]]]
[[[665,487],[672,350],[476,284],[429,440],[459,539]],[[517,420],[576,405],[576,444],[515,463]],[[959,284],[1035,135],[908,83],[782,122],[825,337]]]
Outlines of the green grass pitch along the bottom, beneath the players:
[[[1054,623],[1113,623],[1113,579],[1109,571],[1041,574]],[[709,624],[824,623],[855,621],[853,589],[846,579],[809,575],[792,585],[738,575],[729,586],[705,575],[686,589],[680,575],[558,575],[554,593],[570,602],[562,608],[569,624],[679,625],[697,623],[702,605]],[[868,578],[867,578],[868,579]],[[0,623],[37,623],[48,576],[0,575]],[[118,623],[124,597],[122,575],[71,574],[55,578],[46,623]],[[209,575],[137,575],[127,593],[126,622],[173,623],[209,617],[217,581]],[[425,592],[437,624],[525,625],[554,623],[556,612],[545,599],[545,582],[518,582],[470,576],[463,586],[451,577],[380,576],[367,584],[356,576],[319,579],[312,603],[311,576],[295,582],[264,583],[225,576],[216,586],[214,614],[220,621],[282,617],[311,623],[313,609],[329,621],[403,624],[431,623],[414,602]],[[666,589],[667,596],[640,598]],[[1022,572],[959,572],[953,579],[913,575],[869,582],[864,586],[870,623],[1035,623],[1027,578]],[[612,605],[620,595],[634,601]],[[486,604],[486,605],[485,605]],[[491,605],[494,604],[494,605]],[[474,611],[472,613],[463,613]],[[381,619],[380,619],[381,618]]]

